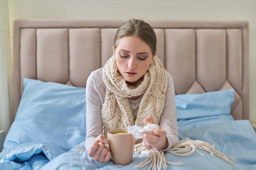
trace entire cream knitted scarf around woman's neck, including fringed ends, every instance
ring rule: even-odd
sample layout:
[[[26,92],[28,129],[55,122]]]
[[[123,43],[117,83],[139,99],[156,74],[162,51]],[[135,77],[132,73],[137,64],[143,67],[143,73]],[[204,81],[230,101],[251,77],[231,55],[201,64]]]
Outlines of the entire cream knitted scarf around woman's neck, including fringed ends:
[[[166,71],[159,58],[154,57],[154,61],[143,79],[136,86],[133,86],[127,85],[125,79],[118,73],[113,55],[103,67],[102,79],[106,85],[105,102],[102,106],[102,123],[106,137],[108,130],[135,124],[139,127],[145,127],[144,119],[148,115],[152,115],[156,124],[159,124],[167,86]],[[128,98],[142,94],[144,95],[135,120]],[[187,157],[194,152],[203,155],[197,150],[198,148],[209,152],[211,155],[215,154],[227,163],[233,163],[232,160],[234,159],[232,157],[226,157],[216,151],[214,146],[208,142],[200,140],[184,139],[166,152],[181,157]],[[138,140],[134,152],[141,154],[142,151],[145,151],[145,147],[142,145],[142,141]],[[165,160],[163,151],[149,151],[148,158],[135,168],[142,168],[148,164],[150,164],[149,169],[161,169],[162,166],[166,169],[167,164],[182,165],[182,163],[172,163]]]

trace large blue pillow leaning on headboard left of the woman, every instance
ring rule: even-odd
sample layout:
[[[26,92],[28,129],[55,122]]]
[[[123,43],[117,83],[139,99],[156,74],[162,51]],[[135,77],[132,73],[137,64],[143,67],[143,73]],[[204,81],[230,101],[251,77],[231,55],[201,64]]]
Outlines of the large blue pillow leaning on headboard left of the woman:
[[[84,141],[85,88],[26,78],[23,85],[23,96],[4,150],[26,142],[41,142],[68,151]]]

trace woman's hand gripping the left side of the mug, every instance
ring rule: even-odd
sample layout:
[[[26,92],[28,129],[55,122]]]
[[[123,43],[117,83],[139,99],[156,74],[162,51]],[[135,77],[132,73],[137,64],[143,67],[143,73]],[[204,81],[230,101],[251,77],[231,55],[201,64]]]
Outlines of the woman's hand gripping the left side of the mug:
[[[108,143],[108,139],[99,135],[91,145],[88,155],[100,163],[107,163],[111,159],[111,152],[105,143]]]

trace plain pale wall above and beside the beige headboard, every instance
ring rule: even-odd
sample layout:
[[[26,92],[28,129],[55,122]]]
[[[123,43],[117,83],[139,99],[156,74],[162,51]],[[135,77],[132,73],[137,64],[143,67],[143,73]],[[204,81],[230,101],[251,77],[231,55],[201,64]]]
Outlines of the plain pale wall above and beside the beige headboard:
[[[250,27],[250,121],[256,126],[255,0],[10,0],[14,19],[247,20]],[[11,35],[12,36],[12,35]]]

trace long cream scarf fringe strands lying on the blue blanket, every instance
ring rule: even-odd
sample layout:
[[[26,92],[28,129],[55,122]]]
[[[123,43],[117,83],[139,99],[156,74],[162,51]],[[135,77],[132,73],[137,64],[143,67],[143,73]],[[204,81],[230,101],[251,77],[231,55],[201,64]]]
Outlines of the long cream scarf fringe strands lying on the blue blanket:
[[[190,154],[194,154],[194,152],[196,151],[198,154],[204,156],[200,151],[197,150],[198,148],[202,149],[203,151],[209,152],[211,156],[215,154],[221,160],[224,160],[226,163],[229,163],[231,165],[233,165],[232,161],[236,161],[233,157],[227,157],[221,152],[215,150],[214,145],[210,145],[208,142],[203,142],[200,140],[191,140],[191,139],[181,140],[181,142],[179,142],[177,145],[170,148],[166,152],[170,154],[175,154],[179,157],[187,157]],[[148,165],[149,163],[151,163],[151,165],[149,166],[148,169],[152,169],[152,170],[155,170],[156,168],[161,169],[162,166],[163,166],[163,169],[166,169],[167,164],[171,164],[175,166],[183,165],[183,163],[172,163],[172,162],[166,161],[163,151],[151,150],[148,155],[148,158],[142,163],[140,163],[139,165],[134,166],[134,168],[142,168]]]

